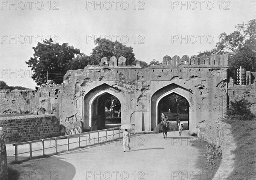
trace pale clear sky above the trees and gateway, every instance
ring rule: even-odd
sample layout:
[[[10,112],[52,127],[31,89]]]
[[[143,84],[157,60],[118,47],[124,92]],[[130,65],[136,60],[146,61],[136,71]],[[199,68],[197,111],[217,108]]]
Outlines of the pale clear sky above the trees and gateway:
[[[255,0],[0,0],[0,79],[35,89],[25,63],[52,38],[90,55],[98,37],[131,46],[149,63],[211,50],[218,36],[256,18]]]

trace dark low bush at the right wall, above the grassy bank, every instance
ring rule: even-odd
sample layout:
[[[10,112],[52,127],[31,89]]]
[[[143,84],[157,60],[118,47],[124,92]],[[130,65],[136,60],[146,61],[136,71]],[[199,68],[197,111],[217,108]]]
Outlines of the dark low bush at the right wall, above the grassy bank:
[[[249,109],[250,102],[243,98],[241,100],[230,101],[230,106],[227,109],[227,117],[234,120],[253,120],[254,114]]]

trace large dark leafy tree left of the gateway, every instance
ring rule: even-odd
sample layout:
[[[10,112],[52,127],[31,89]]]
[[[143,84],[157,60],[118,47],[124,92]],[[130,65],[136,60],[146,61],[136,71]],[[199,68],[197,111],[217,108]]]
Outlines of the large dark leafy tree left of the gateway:
[[[53,43],[52,39],[38,43],[34,49],[34,57],[26,61],[28,67],[32,68],[32,79],[37,85],[46,83],[47,71],[52,75],[55,83],[63,82],[63,74],[69,70],[70,60],[75,54],[80,54],[79,49],[69,46],[68,43],[62,45]]]

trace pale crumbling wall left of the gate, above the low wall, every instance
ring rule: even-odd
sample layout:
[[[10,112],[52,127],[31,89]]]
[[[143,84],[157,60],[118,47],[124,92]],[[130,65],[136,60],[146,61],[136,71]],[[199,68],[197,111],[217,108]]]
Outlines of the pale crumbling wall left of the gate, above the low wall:
[[[0,90],[0,114],[55,114],[59,118],[62,91],[62,85],[44,86],[37,91]]]

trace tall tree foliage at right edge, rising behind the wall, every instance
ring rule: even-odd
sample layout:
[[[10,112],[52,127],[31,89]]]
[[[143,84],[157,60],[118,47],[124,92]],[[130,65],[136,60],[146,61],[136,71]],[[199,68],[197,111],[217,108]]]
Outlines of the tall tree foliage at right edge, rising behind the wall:
[[[240,66],[247,71],[256,71],[256,20],[248,23],[238,24],[230,34],[221,33],[220,42],[216,43],[214,49],[210,51],[198,52],[198,57],[206,54],[225,54],[229,53],[228,61],[229,77],[236,77],[236,69]]]

